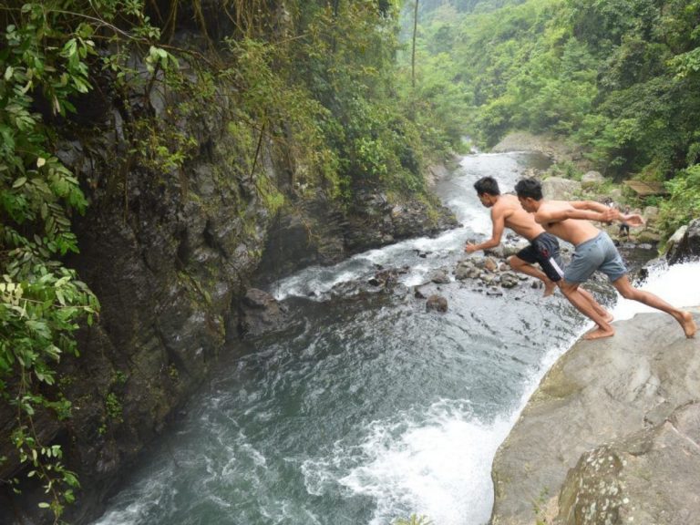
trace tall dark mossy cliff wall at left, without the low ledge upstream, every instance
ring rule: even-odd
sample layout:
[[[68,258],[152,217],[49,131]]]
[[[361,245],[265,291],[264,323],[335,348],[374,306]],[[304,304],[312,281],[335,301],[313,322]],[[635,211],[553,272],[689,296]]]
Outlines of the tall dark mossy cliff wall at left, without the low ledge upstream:
[[[91,205],[75,221],[81,253],[68,263],[101,303],[98,323],[78,336],[81,356],[64,359],[53,394],[71,400],[72,417],[37,421],[42,441],[63,446],[83,486],[71,522],[98,508],[121,469],[201,385],[226,338],[237,335],[237,304],[260,261],[270,212],[254,182],[237,175],[236,145],[218,131],[222,123],[209,124],[186,174],[139,166],[114,173],[125,147],[117,132],[60,152],[90,181]],[[14,412],[0,408],[0,456],[10,458],[4,479],[19,468],[8,439],[13,423]],[[40,494],[31,487],[21,499],[10,494],[0,522],[21,520],[26,510],[33,520]]]

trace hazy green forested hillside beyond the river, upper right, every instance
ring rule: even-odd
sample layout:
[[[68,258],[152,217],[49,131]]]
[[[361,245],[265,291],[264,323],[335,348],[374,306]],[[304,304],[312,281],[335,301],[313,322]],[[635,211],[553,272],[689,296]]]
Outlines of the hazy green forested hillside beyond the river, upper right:
[[[615,180],[668,181],[668,230],[700,215],[700,2],[421,4],[417,88],[438,114],[481,145],[553,133]]]

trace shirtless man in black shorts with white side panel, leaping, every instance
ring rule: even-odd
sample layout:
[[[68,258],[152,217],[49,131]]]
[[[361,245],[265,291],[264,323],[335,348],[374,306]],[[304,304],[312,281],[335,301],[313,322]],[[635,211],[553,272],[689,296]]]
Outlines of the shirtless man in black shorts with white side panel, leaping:
[[[520,201],[515,195],[501,195],[499,183],[492,177],[483,177],[477,180],[474,183],[474,189],[477,190],[481,204],[491,209],[493,231],[488,241],[479,242],[479,244],[468,242],[464,251],[472,253],[495,248],[500,244],[503,230],[510,228],[513,232],[530,241],[530,246],[510,257],[508,260],[510,267],[516,272],[540,279],[544,283],[545,297],[554,293],[555,288],[561,285],[561,278],[564,274],[557,238],[551,233],[545,232],[540,224],[535,222],[534,217],[522,209]],[[535,262],[540,264],[542,271],[532,265]],[[612,321],[612,315],[595,301],[591,293],[581,289],[572,294],[588,304],[607,323]],[[569,298],[568,295],[566,297]],[[571,304],[574,303],[571,302]]]

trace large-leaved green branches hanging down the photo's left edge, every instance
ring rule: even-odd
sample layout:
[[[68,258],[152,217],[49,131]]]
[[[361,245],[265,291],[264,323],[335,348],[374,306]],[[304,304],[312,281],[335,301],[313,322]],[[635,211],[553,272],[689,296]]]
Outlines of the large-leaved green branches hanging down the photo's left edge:
[[[60,262],[77,252],[71,216],[87,202],[52,154],[54,134],[37,111],[44,105],[65,117],[91,88],[93,27],[80,22],[66,31],[58,11],[65,4],[11,2],[0,14],[0,395],[17,408],[11,439],[50,498],[40,506],[57,519],[77,479],[61,463],[61,448],[39,440],[35,415],[69,416],[67,399],[52,399],[43,386],[55,384],[62,355],[77,355],[78,323],[98,312],[95,295]]]

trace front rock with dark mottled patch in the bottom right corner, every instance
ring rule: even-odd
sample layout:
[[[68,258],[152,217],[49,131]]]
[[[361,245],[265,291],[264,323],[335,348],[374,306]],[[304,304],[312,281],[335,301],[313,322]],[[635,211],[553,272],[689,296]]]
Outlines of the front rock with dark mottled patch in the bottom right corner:
[[[693,523],[700,515],[700,404],[586,452],[564,480],[561,525]]]

